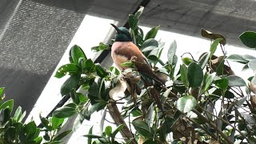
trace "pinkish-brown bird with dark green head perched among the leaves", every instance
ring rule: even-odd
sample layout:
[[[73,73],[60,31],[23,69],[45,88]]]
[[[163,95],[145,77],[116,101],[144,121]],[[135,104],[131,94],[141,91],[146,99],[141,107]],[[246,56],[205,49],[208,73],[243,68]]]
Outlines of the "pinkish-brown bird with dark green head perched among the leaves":
[[[154,88],[154,84],[158,83],[158,85],[164,86],[165,80],[158,78],[154,73],[154,70],[152,70],[152,67],[146,61],[146,57],[142,54],[142,51],[139,50],[138,46],[132,41],[129,30],[125,27],[117,27],[114,24],[111,24],[111,26],[113,26],[117,32],[114,43],[111,46],[111,57],[115,66],[117,66],[119,70],[125,70],[129,68],[129,66],[123,66],[122,63],[129,62],[134,58],[134,66],[138,70],[138,73],[142,75],[144,86],[153,87],[150,89],[150,95],[154,98],[158,108],[163,110],[160,94],[158,90]],[[132,89],[135,88],[133,87]]]

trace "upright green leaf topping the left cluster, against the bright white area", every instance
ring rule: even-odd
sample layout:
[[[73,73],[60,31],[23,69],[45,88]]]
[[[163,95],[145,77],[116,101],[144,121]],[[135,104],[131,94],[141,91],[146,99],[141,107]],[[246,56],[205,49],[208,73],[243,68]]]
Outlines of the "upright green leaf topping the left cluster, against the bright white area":
[[[78,63],[79,58],[86,58],[86,54],[77,45],[74,45],[74,46],[71,47],[70,56],[73,59],[74,64],[76,64],[76,65],[79,65],[79,63]]]

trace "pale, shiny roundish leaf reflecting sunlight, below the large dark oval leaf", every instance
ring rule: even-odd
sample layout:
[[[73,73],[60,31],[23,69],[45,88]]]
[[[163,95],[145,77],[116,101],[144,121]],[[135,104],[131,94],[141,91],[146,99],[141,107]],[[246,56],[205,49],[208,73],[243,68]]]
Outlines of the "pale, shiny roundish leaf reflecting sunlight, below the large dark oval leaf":
[[[178,98],[176,106],[177,109],[180,110],[182,113],[186,113],[190,110],[193,110],[194,107],[197,106],[197,100],[191,95],[186,95],[182,98]]]

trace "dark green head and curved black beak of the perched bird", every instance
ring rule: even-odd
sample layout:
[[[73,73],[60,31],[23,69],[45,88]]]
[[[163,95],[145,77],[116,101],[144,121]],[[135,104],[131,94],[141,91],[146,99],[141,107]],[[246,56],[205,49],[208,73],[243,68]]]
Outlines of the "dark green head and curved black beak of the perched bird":
[[[132,42],[129,30],[125,27],[117,27],[111,24],[115,30],[117,30],[117,35],[115,36],[115,42]]]

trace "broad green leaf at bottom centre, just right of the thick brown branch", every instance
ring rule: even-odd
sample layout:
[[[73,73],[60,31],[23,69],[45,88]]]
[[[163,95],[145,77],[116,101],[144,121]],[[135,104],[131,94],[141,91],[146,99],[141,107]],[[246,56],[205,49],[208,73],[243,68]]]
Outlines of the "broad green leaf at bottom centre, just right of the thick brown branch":
[[[148,126],[146,122],[142,120],[135,120],[134,122],[132,122],[132,124],[134,125],[134,129],[138,132],[138,134],[142,134],[143,137],[154,137],[154,130],[150,129],[150,126]]]

